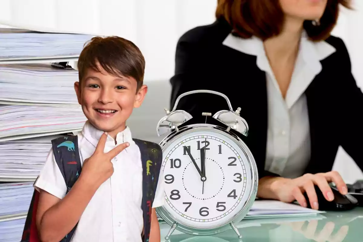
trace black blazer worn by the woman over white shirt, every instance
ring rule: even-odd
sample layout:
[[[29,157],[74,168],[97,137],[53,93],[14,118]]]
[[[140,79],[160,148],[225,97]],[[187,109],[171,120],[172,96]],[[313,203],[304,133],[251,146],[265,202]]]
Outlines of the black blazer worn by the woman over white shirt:
[[[180,37],[176,47],[175,75],[171,78],[171,108],[187,91],[208,89],[229,98],[233,109],[241,107],[241,117],[249,125],[247,137],[240,135],[251,150],[259,177],[264,171],[267,142],[266,74],[251,56],[222,44],[231,27],[225,20],[191,29]],[[309,110],[311,159],[305,173],[329,172],[339,145],[363,170],[363,94],[351,74],[346,46],[337,37],[326,42],[336,52],[321,61],[322,71],[305,94]],[[204,123],[202,112],[228,110],[225,99],[213,94],[192,94],[180,100],[177,109],[193,118],[185,124]],[[219,124],[208,118],[208,123]],[[223,124],[222,124],[223,126]]]

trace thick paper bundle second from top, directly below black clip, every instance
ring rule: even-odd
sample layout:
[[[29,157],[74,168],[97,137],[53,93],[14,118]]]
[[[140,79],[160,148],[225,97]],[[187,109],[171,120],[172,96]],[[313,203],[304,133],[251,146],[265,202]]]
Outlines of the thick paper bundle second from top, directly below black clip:
[[[78,104],[76,81],[78,71],[52,67],[50,63],[0,65],[0,103]]]

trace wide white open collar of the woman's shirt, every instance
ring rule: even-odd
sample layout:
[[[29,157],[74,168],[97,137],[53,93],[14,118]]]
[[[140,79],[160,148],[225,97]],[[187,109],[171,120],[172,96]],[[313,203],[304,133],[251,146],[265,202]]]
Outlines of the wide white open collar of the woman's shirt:
[[[261,70],[269,71],[270,65],[265,54],[263,42],[260,38],[252,36],[251,38],[244,39],[233,36],[232,33],[230,33],[223,41],[223,45],[245,54],[257,56],[257,66]],[[322,69],[320,61],[324,60],[335,51],[335,48],[326,41],[313,42],[309,40],[306,32],[303,31],[299,49],[299,55],[301,55],[301,57],[298,56],[298,59],[301,58],[314,73],[318,74]]]

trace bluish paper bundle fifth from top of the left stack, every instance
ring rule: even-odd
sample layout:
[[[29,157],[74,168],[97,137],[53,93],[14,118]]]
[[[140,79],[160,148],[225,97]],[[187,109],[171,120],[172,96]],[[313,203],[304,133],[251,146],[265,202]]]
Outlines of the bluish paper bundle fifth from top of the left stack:
[[[26,217],[33,192],[33,182],[0,184],[0,219]]]

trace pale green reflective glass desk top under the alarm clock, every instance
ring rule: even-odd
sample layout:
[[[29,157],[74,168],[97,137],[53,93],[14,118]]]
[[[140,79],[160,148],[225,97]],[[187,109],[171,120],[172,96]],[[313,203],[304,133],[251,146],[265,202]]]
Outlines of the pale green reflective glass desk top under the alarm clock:
[[[193,236],[175,230],[170,242],[363,242],[363,207],[309,217],[260,218],[237,223],[242,239],[229,229],[213,236]],[[161,241],[170,225],[160,222]]]

